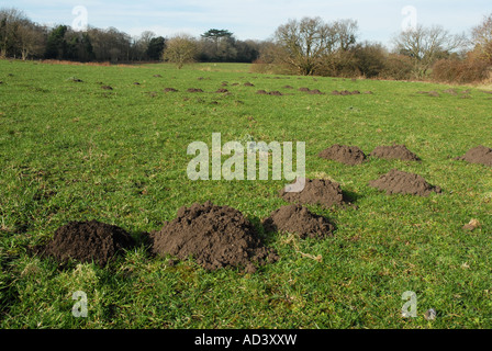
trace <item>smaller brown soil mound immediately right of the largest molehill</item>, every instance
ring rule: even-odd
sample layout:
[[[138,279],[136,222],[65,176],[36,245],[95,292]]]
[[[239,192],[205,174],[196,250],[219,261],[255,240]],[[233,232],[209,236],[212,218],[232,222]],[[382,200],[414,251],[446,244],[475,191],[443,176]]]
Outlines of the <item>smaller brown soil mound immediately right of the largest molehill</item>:
[[[328,219],[301,205],[287,205],[273,211],[262,225],[266,231],[294,233],[302,239],[333,236],[335,230]]]

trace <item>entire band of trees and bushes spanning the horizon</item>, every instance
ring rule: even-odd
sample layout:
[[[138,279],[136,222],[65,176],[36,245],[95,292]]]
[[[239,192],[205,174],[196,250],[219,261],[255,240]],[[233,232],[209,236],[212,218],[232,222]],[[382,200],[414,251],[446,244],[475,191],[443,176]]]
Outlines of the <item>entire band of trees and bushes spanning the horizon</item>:
[[[114,27],[75,31],[67,25],[47,27],[15,8],[0,9],[0,58],[76,61],[191,61],[254,63],[256,72],[435,79],[446,82],[481,81],[492,66],[492,14],[454,35],[440,26],[402,31],[393,47],[359,42],[354,20],[324,22],[321,18],[289,20],[271,39],[239,41],[227,30],[211,29],[193,37],[157,36],[146,31],[131,36]]]

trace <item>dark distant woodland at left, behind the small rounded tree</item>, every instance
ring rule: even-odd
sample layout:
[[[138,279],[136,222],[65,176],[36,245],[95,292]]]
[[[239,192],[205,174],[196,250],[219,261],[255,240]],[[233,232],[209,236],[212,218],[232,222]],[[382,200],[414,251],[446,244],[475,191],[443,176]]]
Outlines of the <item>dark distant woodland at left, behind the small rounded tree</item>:
[[[0,9],[0,58],[63,59],[75,61],[155,61],[163,59],[167,38],[150,31],[134,37],[118,29],[68,25],[47,27],[31,21],[22,11]],[[251,63],[259,43],[238,41],[225,30],[210,30],[198,41],[195,58],[201,61]]]

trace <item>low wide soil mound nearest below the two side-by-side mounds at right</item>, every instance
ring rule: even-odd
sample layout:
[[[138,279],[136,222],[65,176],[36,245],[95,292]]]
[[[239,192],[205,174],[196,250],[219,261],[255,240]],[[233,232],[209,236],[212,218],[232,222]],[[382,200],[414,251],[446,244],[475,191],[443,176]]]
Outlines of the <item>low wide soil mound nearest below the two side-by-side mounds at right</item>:
[[[379,190],[385,190],[388,195],[399,193],[428,196],[432,192],[441,192],[439,186],[431,185],[423,177],[396,169],[392,169],[379,179],[370,181],[369,185]]]

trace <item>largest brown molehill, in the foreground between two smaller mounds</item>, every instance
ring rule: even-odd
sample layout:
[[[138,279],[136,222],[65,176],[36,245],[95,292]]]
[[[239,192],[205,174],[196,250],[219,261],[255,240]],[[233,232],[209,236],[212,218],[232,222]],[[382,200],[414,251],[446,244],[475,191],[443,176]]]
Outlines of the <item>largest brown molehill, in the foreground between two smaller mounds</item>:
[[[150,238],[154,253],[181,260],[191,256],[208,270],[238,267],[254,272],[254,263],[278,259],[262,246],[256,228],[239,211],[211,202],[179,208],[177,217]]]

